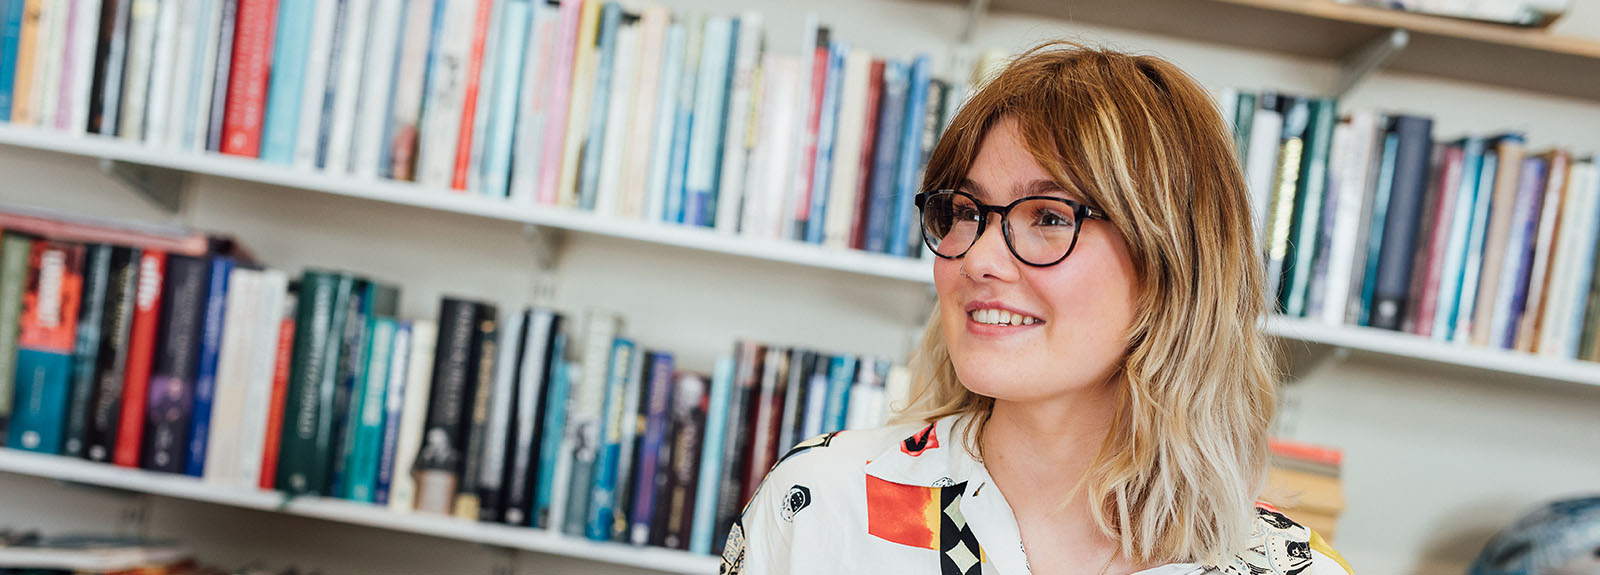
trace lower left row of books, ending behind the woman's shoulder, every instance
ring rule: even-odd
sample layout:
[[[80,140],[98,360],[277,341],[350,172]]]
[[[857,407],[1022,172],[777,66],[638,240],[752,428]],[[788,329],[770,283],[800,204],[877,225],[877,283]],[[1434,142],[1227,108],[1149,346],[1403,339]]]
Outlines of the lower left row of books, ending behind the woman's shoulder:
[[[182,229],[0,229],[6,445],[219,485],[712,553],[781,450],[882,424],[909,381],[755,343],[701,375],[600,311],[403,320],[392,285]]]

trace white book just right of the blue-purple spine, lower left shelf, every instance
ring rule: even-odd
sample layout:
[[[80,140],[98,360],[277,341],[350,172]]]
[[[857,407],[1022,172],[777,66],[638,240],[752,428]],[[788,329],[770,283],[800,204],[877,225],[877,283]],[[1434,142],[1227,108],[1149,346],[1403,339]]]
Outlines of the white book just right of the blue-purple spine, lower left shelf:
[[[211,396],[211,428],[206,436],[205,482],[238,482],[240,420],[250,388],[250,360],[254,348],[254,311],[261,272],[235,267],[227,277],[222,312],[222,349],[216,360],[216,391]]]

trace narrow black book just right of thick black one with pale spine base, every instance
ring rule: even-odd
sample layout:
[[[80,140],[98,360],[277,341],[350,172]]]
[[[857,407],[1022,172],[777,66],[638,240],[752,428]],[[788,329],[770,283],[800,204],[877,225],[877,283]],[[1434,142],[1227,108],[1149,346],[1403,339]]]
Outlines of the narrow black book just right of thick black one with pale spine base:
[[[494,359],[499,354],[499,320],[491,304],[480,303],[477,332],[472,335],[472,378],[467,380],[467,402],[461,421],[466,434],[461,448],[461,484],[456,485],[454,514],[478,519],[478,472],[483,469],[483,444],[488,434],[490,402],[494,394]]]

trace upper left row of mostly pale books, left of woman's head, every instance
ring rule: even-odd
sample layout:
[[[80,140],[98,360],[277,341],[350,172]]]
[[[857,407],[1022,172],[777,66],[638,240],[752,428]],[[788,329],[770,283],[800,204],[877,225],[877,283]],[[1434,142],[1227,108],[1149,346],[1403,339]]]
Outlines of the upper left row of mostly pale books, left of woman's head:
[[[602,0],[0,0],[0,122],[920,256],[974,64]],[[971,58],[963,58],[971,61]],[[994,61],[990,61],[994,66]]]

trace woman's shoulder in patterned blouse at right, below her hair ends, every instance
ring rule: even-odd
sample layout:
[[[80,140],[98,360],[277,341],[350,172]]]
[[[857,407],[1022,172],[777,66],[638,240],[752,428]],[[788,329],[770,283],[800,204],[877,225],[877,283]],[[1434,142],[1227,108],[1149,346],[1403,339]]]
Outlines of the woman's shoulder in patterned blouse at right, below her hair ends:
[[[1250,543],[1232,565],[1222,569],[1222,573],[1350,575],[1354,572],[1315,530],[1294,522],[1274,506],[1258,503]]]

